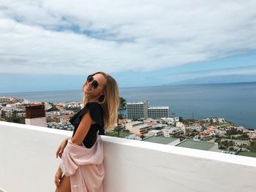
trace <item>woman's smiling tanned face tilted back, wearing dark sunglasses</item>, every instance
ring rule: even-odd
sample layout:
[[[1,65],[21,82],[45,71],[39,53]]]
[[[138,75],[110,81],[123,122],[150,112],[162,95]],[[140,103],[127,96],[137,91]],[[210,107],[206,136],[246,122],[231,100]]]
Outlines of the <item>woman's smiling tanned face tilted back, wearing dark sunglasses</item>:
[[[97,81],[98,86],[94,88],[93,81]],[[99,97],[104,95],[104,85],[105,85],[105,77],[102,74],[94,74],[93,80],[91,82],[86,82],[86,85],[83,87],[83,92],[88,94],[90,97]]]

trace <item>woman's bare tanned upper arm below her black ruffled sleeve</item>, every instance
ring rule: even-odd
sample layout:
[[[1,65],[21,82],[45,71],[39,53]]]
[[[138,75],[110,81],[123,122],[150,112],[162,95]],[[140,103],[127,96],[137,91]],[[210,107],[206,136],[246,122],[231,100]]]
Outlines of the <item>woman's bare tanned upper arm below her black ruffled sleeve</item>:
[[[91,119],[90,112],[86,112],[80,121],[77,131],[75,131],[74,137],[72,137],[72,143],[82,145],[83,139],[86,137],[86,134],[93,123],[94,121]]]

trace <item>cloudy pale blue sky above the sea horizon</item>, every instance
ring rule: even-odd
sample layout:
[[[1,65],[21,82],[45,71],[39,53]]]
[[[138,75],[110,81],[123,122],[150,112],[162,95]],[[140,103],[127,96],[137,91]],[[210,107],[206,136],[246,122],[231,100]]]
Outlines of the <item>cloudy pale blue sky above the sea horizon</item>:
[[[256,1],[0,1],[0,93],[256,75]],[[243,77],[244,77],[243,76]]]

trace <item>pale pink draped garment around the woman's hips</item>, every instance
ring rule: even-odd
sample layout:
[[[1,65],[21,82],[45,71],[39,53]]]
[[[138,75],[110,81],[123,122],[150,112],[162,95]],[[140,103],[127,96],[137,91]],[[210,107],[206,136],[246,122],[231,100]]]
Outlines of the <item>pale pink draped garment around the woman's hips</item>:
[[[103,159],[103,142],[99,135],[91,148],[68,140],[61,159],[61,171],[70,178],[72,192],[103,192]]]

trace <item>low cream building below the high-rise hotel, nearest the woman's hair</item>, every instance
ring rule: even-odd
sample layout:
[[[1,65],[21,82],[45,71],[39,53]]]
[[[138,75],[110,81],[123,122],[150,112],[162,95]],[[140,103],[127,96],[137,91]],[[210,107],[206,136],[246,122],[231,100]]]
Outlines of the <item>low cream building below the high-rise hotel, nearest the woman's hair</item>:
[[[152,129],[151,125],[145,124],[141,121],[127,123],[125,128],[135,134],[146,134]]]

